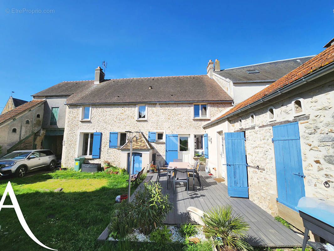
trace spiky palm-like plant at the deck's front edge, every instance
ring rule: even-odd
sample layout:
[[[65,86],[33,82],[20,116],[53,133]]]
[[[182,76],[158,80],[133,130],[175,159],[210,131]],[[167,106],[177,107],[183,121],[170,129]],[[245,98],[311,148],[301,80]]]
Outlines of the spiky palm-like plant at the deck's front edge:
[[[253,250],[244,237],[249,225],[239,214],[232,214],[232,207],[213,207],[203,215],[206,237],[213,237],[219,250]]]

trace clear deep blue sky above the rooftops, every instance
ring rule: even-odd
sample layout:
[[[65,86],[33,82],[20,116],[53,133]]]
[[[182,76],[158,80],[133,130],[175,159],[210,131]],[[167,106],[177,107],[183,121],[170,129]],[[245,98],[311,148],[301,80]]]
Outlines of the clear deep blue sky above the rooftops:
[[[11,13],[23,8],[54,13]],[[333,9],[310,0],[1,1],[0,107],[11,91],[31,100],[61,81],[91,80],[103,60],[109,79],[317,54],[334,36]]]

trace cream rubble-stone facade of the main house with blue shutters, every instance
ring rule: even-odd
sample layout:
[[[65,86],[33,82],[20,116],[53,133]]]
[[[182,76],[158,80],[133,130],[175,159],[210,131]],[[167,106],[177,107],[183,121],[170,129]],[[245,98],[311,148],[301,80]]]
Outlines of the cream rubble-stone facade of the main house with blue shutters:
[[[230,103],[210,103],[210,116],[226,111]],[[80,121],[80,106],[68,106],[66,109],[65,131],[62,151],[62,165],[72,167],[73,158],[78,153],[80,132],[102,132],[101,158],[90,162],[111,161],[120,165],[121,150],[109,148],[109,132],[142,131],[148,137],[149,131],[163,130],[165,134],[204,133],[202,125],[209,120],[193,119],[193,104],[148,104],[147,121],[136,120],[136,105],[92,105],[91,121]],[[191,138],[189,140],[190,148]],[[157,154],[156,161],[165,160],[165,143],[152,142]],[[191,149],[191,148],[190,148]],[[193,150],[190,150],[190,153]],[[192,159],[192,158],[191,158]]]

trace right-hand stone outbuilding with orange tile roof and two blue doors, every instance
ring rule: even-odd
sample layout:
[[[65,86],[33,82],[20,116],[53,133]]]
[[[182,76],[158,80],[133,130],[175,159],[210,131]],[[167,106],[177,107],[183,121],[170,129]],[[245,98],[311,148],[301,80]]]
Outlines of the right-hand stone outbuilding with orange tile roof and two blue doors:
[[[333,42],[333,40],[331,41]],[[203,125],[228,194],[299,229],[303,196],[334,199],[334,44]],[[219,146],[220,152],[219,152]],[[219,153],[225,155],[217,165]],[[213,159],[211,156],[213,155]],[[218,157],[218,158],[217,158]]]

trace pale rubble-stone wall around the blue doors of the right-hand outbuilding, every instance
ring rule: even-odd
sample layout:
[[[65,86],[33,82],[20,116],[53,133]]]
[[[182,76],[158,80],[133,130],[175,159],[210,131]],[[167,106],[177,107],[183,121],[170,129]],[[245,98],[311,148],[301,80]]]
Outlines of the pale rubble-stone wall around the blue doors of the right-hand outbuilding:
[[[313,87],[313,88],[312,88]],[[284,97],[284,99],[282,99]],[[293,101],[299,99],[302,112],[294,112]],[[272,125],[299,121],[303,172],[306,196],[334,199],[334,81],[304,85],[289,94],[255,110],[247,110],[230,121],[229,131],[245,131],[247,163],[259,165],[260,170],[248,167],[249,199],[268,213],[277,213],[276,169]],[[275,119],[270,120],[269,107]],[[255,125],[251,114],[255,115]],[[242,127],[239,128],[239,118]],[[323,183],[330,184],[326,188]]]

